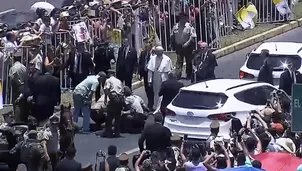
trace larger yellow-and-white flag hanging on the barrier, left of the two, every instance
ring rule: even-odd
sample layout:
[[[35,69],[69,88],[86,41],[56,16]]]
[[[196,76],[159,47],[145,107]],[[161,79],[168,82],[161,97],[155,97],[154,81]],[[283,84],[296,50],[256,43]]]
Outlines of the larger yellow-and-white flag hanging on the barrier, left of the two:
[[[247,7],[243,6],[237,13],[236,19],[244,29],[253,29],[255,27],[258,11],[254,4],[249,3]]]

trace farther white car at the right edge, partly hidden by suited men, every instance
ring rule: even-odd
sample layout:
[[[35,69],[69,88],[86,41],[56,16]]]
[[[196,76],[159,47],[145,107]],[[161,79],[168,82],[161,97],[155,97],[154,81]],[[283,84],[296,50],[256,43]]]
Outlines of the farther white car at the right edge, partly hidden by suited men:
[[[302,43],[265,42],[247,54],[246,61],[240,68],[240,79],[257,80],[260,68],[266,60],[260,56],[263,49],[269,50],[268,60],[273,67],[274,85],[279,85],[280,76],[288,63],[291,63],[295,70],[302,72]]]

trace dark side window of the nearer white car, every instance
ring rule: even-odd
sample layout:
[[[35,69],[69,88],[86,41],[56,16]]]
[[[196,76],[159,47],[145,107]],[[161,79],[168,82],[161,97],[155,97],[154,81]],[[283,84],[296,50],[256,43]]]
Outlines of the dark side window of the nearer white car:
[[[235,98],[239,101],[252,105],[265,105],[267,101],[266,94],[262,87],[255,87],[236,93]]]

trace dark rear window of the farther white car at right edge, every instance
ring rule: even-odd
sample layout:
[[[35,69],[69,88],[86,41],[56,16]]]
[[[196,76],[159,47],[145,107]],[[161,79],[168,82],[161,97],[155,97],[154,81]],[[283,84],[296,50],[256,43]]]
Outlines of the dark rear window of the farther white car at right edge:
[[[248,57],[246,67],[260,70],[266,59],[267,58],[261,57],[260,54],[251,53]],[[282,67],[282,63],[293,64],[295,70],[298,70],[301,66],[301,58],[298,55],[269,55],[268,61],[274,71],[283,71],[284,68]]]

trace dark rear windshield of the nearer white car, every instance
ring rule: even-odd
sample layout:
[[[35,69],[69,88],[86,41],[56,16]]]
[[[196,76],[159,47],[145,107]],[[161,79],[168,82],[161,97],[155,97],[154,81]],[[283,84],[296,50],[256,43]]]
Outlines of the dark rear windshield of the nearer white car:
[[[187,109],[219,109],[228,97],[223,93],[195,92],[181,90],[172,105]]]

